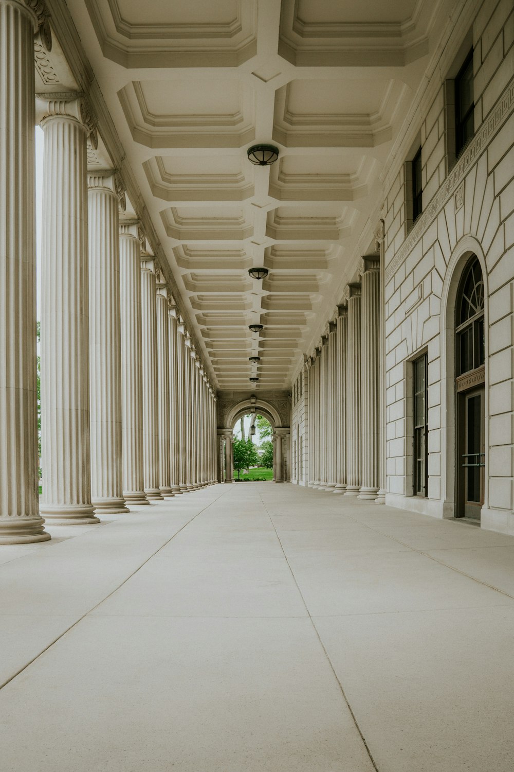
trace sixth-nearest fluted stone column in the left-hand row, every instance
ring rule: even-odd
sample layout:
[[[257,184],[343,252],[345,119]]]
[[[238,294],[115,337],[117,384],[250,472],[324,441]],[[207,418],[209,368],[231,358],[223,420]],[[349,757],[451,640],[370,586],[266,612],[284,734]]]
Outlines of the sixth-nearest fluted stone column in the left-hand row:
[[[173,496],[170,456],[170,335],[168,332],[168,287],[157,283],[157,405],[159,424],[159,489],[161,496]]]

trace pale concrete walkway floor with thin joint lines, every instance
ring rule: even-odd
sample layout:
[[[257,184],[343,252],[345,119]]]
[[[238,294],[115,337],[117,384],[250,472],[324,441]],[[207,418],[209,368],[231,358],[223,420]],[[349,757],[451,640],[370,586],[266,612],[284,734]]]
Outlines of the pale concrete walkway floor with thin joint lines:
[[[514,538],[272,483],[0,547],[2,772],[512,772]]]

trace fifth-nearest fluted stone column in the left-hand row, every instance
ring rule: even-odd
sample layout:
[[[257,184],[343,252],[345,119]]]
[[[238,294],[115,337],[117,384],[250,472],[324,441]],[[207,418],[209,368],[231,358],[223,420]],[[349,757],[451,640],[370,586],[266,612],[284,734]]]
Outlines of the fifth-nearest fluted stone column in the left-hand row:
[[[156,269],[153,259],[141,262],[143,334],[143,481],[146,498],[162,500],[159,489],[159,403],[157,394]]]

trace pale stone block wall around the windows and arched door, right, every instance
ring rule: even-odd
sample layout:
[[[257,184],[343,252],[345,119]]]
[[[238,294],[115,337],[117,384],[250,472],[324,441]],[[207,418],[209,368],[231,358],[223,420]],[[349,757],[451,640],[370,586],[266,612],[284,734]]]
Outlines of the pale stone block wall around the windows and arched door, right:
[[[470,4],[471,5],[471,4]],[[477,7],[478,5],[478,7]],[[385,179],[387,502],[452,516],[455,502],[455,287],[467,257],[485,280],[485,505],[482,527],[514,533],[514,10],[475,4],[455,29]],[[475,135],[452,157],[452,88],[473,46]],[[469,50],[469,49],[468,49]],[[453,72],[452,72],[453,70]],[[449,84],[451,86],[451,83]],[[429,100],[428,100],[429,97]],[[408,152],[422,146],[423,212],[408,218]],[[411,145],[409,145],[411,143]],[[428,354],[428,497],[412,496],[412,360]]]

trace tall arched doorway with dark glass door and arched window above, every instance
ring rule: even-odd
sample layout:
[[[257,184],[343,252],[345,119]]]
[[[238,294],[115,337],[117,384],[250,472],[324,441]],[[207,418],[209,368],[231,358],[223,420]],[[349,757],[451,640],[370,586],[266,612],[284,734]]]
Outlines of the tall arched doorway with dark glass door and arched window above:
[[[465,266],[455,319],[457,391],[456,517],[480,520],[484,503],[485,345],[484,282],[479,260]]]

